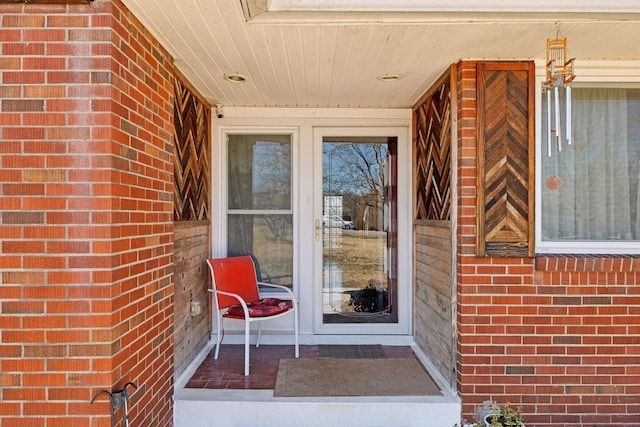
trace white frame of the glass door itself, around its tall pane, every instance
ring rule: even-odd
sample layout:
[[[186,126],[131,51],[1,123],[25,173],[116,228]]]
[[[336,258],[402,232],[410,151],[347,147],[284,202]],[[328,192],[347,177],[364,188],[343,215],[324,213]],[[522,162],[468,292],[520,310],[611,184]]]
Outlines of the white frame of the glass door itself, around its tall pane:
[[[322,291],[323,239],[313,240],[313,319],[314,334],[317,335],[410,335],[412,333],[412,245],[411,224],[412,207],[411,189],[411,147],[409,129],[398,126],[358,126],[313,128],[313,206],[312,222],[322,224],[323,192],[322,192],[322,144],[324,137],[331,136],[372,136],[397,138],[397,281],[398,281],[398,322],[397,323],[343,323],[325,324],[323,322]]]

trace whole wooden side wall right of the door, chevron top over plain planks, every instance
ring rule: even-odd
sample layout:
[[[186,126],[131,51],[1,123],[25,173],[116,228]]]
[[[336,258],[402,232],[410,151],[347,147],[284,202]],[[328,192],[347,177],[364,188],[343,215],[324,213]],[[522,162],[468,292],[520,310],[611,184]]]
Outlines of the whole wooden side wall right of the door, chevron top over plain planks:
[[[414,334],[440,373],[455,384],[451,218],[452,87],[447,70],[413,108]]]

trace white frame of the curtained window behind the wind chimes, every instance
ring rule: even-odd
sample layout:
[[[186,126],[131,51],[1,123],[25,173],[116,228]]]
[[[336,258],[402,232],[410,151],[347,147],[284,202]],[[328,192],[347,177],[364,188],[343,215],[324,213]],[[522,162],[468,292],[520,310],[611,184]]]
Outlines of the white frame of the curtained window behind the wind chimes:
[[[574,86],[640,87],[640,61],[576,61]],[[536,182],[535,247],[537,254],[640,254],[640,243],[633,241],[543,241],[542,240],[542,85],[545,64],[536,62]]]

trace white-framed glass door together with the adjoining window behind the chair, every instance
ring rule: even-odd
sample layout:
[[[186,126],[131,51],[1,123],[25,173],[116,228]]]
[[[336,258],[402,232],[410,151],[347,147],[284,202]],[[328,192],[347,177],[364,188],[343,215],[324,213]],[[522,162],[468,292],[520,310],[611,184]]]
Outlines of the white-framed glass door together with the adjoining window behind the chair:
[[[385,121],[229,117],[213,141],[213,257],[251,255],[259,281],[291,287],[309,343],[411,337],[409,127]]]

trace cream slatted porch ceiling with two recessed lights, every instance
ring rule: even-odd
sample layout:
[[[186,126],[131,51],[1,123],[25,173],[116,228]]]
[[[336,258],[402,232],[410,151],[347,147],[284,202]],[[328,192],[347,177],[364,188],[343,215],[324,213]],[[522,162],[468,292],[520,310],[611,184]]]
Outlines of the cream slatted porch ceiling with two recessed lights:
[[[564,9],[556,0],[124,3],[211,104],[229,107],[411,107],[460,59],[544,60],[556,23],[576,68],[640,60],[638,0],[565,0]],[[228,82],[227,73],[248,81]]]

